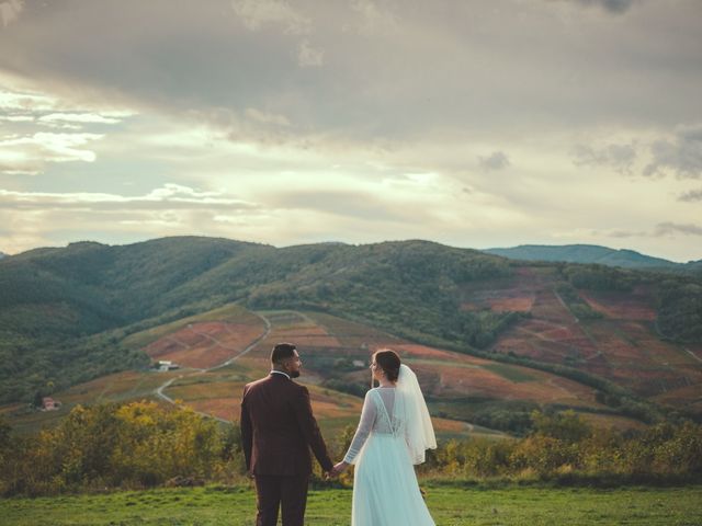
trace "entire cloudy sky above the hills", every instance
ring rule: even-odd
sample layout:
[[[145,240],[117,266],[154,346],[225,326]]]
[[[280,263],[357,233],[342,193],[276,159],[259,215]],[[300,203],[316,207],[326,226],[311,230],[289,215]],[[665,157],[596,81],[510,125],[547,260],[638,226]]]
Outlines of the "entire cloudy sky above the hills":
[[[700,0],[0,0],[0,251],[702,259]]]

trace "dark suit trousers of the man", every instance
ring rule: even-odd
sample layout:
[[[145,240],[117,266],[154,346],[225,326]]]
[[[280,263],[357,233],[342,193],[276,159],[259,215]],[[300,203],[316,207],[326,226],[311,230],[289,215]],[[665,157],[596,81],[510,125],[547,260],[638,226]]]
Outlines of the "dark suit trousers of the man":
[[[307,505],[308,474],[257,474],[256,526],[275,526],[282,508],[283,526],[303,526]]]

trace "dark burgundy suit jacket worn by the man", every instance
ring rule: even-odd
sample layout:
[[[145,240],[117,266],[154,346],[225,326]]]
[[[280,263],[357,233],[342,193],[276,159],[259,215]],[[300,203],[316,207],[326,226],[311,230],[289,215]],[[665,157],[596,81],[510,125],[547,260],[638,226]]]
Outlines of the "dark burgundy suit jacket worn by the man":
[[[312,456],[329,471],[333,465],[312,414],[309,391],[283,375],[248,384],[241,399],[241,441],[253,474],[310,474]]]

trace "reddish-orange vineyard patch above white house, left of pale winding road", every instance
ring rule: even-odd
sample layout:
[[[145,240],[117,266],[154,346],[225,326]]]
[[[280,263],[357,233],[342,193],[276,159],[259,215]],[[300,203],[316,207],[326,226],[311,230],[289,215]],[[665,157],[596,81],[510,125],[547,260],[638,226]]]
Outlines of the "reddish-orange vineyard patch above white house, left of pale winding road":
[[[208,368],[241,353],[262,332],[262,323],[191,323],[149,344],[146,353],[154,359],[171,361],[182,367]]]

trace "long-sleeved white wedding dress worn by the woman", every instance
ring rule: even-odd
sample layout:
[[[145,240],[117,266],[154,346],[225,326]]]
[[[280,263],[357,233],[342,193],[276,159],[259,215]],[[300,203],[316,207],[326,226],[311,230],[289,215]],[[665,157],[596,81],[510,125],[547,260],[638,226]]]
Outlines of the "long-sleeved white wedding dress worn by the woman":
[[[423,461],[424,448],[419,447],[421,458],[412,454],[406,421],[411,413],[404,411],[401,395],[396,395],[393,387],[374,388],[365,395],[361,422],[344,457],[356,465],[352,526],[434,526],[412,466]]]

